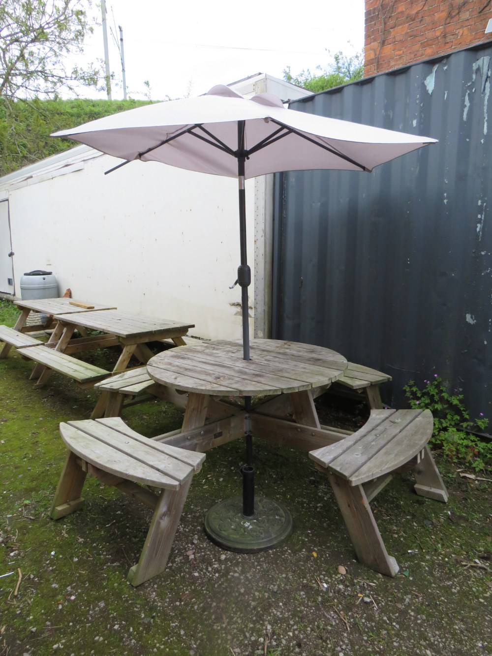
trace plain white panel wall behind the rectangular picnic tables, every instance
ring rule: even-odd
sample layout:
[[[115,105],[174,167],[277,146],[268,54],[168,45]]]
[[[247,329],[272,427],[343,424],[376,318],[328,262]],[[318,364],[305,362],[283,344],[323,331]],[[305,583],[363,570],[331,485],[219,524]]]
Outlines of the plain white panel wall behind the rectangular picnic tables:
[[[16,296],[24,272],[45,268],[60,294],[70,287],[80,300],[190,321],[192,335],[240,338],[241,291],[229,289],[239,264],[237,180],[154,162],[104,175],[120,161],[97,155],[80,171],[10,186]],[[252,270],[254,190],[247,180]]]

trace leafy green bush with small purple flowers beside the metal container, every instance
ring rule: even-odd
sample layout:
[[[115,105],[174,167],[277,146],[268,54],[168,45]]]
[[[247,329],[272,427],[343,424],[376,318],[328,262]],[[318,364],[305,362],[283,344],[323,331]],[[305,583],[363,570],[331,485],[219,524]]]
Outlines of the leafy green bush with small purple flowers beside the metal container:
[[[429,409],[434,415],[434,433],[430,443],[440,447],[454,462],[465,462],[476,470],[492,469],[492,442],[473,434],[473,429],[485,430],[489,420],[480,413],[479,419],[470,420],[462,394],[449,394],[437,374],[424,380],[422,390],[413,380],[405,385],[405,396],[410,407]]]

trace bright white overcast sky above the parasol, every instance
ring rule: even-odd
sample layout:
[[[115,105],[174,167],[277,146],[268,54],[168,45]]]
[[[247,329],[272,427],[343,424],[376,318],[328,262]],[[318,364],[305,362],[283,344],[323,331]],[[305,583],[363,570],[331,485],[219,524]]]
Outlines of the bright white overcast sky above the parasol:
[[[195,96],[215,84],[255,73],[283,77],[328,66],[332,54],[363,49],[363,0],[106,0],[110,69],[121,85],[118,26],[123,28],[127,93],[152,100]],[[97,14],[101,22],[100,13]],[[113,38],[113,35],[115,39]],[[104,58],[102,26],[86,47],[87,60]],[[123,98],[113,85],[113,99]],[[83,92],[104,98],[106,94]]]

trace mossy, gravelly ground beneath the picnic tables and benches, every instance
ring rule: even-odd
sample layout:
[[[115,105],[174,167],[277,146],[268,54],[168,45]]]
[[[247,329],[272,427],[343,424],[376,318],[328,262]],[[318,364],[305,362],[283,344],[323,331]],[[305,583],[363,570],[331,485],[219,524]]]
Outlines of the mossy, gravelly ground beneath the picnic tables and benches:
[[[150,511],[88,480],[83,509],[48,517],[65,458],[58,423],[87,419],[96,394],[58,375],[35,390],[31,368],[13,352],[0,360],[0,575],[12,572],[0,578],[1,655],[492,653],[490,482],[461,478],[438,455],[448,504],[417,497],[411,476],[390,483],[372,504],[400,565],[388,579],[356,561],[306,454],[259,440],[258,494],[289,507],[295,532],[261,554],[211,544],[203,514],[239,491],[243,445],[230,443],[207,453],[165,573],[133,588]],[[365,419],[349,401],[323,400],[319,412],[349,428]],[[154,436],[182,412],[156,401],[124,419]]]

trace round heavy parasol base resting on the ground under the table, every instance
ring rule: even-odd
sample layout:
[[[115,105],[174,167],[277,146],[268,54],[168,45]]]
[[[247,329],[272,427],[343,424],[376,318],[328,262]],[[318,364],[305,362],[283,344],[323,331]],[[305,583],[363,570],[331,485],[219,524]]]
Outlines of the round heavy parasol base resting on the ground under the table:
[[[256,497],[253,517],[243,516],[243,498],[220,501],[205,515],[205,533],[223,549],[241,554],[266,551],[292,533],[292,517],[277,501]]]

